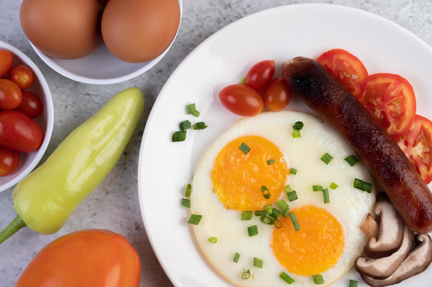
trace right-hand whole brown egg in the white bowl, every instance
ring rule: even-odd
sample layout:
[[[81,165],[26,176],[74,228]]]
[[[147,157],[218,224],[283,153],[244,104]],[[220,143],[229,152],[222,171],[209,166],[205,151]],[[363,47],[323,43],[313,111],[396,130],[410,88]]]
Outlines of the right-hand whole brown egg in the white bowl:
[[[179,24],[178,0],[109,0],[102,16],[102,37],[114,56],[141,63],[168,48]]]

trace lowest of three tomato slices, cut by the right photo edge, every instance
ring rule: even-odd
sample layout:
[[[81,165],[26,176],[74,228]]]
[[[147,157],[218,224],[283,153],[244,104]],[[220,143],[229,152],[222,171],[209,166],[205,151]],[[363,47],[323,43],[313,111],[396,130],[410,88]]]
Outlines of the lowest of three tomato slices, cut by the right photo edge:
[[[429,184],[432,181],[432,122],[416,115],[408,132],[396,142]]]

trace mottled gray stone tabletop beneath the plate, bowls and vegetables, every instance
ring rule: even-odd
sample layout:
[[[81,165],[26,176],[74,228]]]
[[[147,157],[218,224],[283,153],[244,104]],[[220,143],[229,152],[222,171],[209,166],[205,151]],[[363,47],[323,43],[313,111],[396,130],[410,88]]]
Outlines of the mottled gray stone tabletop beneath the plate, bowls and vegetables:
[[[137,164],[147,117],[162,86],[178,64],[198,44],[220,28],[251,13],[292,3],[334,3],[353,6],[384,16],[432,44],[430,0],[184,0],[181,27],[168,54],[141,76],[114,85],[74,82],[49,68],[32,50],[19,24],[18,0],[0,4],[0,40],[29,56],[41,69],[54,101],[54,131],[48,155],[77,126],[91,117],[108,99],[129,87],[139,87],[146,99],[140,123],[114,170],[76,209],[56,234],[45,236],[20,230],[0,245],[0,285],[13,286],[33,256],[52,240],[81,229],[103,228],[122,234],[137,249],[142,263],[141,286],[171,286],[150,246],[143,227],[137,191]],[[349,25],[349,23],[341,23]],[[15,217],[12,189],[0,193],[0,227]]]

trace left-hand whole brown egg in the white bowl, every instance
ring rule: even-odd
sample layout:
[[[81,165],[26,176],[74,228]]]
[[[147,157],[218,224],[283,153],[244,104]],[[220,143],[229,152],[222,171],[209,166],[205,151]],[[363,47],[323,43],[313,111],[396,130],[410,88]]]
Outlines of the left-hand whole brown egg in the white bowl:
[[[39,50],[60,59],[79,59],[102,44],[98,0],[23,0],[22,30]]]

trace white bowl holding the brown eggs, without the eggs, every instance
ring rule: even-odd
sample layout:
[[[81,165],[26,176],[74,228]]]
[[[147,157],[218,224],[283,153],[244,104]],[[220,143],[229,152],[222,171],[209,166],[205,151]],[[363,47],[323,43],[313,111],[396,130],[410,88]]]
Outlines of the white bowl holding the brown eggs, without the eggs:
[[[178,3],[180,5],[181,19],[182,0],[178,0]],[[174,41],[175,37],[172,43]],[[141,75],[162,59],[172,46],[172,43],[165,52],[153,60],[144,63],[127,63],[111,54],[104,43],[102,43],[98,50],[87,57],[77,60],[62,60],[44,54],[44,52],[30,42],[36,54],[57,73],[77,82],[96,85],[115,84]]]

